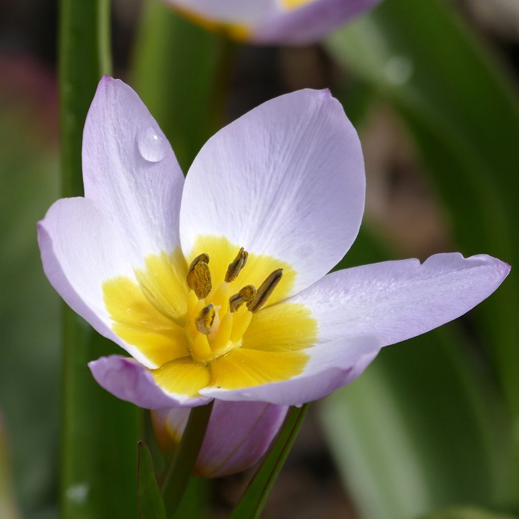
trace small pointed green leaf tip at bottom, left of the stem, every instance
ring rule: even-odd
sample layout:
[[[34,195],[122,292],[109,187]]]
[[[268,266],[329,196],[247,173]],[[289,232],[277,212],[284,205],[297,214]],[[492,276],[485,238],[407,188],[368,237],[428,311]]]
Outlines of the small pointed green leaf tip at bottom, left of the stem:
[[[139,465],[137,471],[137,492],[140,519],[166,519],[166,508],[160,493],[157,474],[148,446],[137,443]]]

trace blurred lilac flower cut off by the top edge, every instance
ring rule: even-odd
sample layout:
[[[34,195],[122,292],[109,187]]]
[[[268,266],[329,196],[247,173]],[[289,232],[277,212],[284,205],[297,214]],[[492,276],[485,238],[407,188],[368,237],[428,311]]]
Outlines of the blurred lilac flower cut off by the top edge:
[[[163,0],[186,18],[239,40],[309,44],[380,0]]]

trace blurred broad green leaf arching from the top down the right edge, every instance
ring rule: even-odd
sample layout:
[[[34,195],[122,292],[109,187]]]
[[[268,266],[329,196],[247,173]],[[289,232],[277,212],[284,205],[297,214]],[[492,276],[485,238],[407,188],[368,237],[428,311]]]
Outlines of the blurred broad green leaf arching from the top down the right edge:
[[[454,11],[441,0],[387,0],[333,35],[327,48],[407,122],[462,252],[516,264],[519,103]],[[476,310],[513,419],[519,418],[518,280],[512,272]]]

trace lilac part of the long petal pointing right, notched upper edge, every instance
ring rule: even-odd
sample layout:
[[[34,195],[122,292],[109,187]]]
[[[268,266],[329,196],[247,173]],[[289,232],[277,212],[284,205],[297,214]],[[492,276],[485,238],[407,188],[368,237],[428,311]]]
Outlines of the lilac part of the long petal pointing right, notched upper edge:
[[[485,254],[435,254],[339,270],[291,299],[319,322],[319,339],[371,334],[382,345],[428,332],[494,292],[510,265]]]

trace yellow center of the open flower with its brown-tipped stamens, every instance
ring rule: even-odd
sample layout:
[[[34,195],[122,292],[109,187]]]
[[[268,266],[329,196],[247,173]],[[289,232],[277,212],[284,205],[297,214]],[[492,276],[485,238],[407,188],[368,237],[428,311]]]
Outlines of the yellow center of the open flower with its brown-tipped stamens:
[[[195,254],[189,266],[180,250],[151,254],[136,281],[103,283],[113,331],[133,357],[154,365],[157,384],[193,396],[302,373],[317,322],[302,304],[276,304],[291,292],[292,266],[212,236],[197,240]]]

